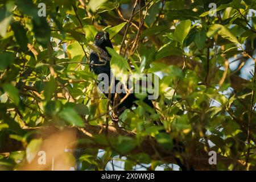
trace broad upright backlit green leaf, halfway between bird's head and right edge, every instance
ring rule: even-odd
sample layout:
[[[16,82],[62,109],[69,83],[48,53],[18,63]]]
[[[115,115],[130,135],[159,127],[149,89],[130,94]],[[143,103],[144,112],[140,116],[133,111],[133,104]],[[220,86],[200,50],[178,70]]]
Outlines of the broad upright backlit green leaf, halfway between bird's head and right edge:
[[[183,44],[183,41],[187,37],[190,27],[191,20],[183,20],[175,28],[174,36],[181,44]]]

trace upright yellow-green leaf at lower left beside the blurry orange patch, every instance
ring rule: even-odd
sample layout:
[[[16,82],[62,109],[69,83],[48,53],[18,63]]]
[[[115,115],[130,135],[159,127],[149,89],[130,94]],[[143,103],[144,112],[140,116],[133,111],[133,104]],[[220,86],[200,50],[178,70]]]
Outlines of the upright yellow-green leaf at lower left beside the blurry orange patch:
[[[26,158],[28,163],[31,163],[35,156],[38,154],[40,150],[41,144],[43,140],[40,139],[32,139],[30,143],[28,143],[26,148]]]

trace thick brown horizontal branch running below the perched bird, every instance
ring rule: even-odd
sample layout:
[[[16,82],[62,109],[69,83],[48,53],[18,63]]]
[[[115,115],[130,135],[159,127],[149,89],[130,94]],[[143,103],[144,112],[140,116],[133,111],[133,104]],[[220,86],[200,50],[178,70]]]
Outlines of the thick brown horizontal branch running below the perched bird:
[[[84,128],[77,128],[77,127],[65,127],[65,130],[72,131],[76,133],[76,139],[85,139],[90,142],[76,142],[70,145],[72,148],[73,146],[76,146],[76,148],[101,148],[105,149],[109,146],[104,146],[102,144],[98,144],[93,140],[93,135],[102,134],[105,133],[105,126],[91,126],[87,125]],[[60,131],[56,127],[36,127],[36,128],[29,128],[29,129],[23,129],[26,132],[33,131],[36,134],[31,135],[32,138],[39,138],[42,137],[43,139],[46,139],[52,134],[57,133]],[[126,131],[120,128],[115,128],[113,126],[108,126],[108,137],[116,138],[118,136],[126,136],[126,137],[135,137],[135,133],[131,131]],[[18,140],[6,137],[0,146],[0,153],[4,152],[12,152],[12,151],[20,151],[24,150],[24,146],[22,142],[19,142]],[[198,148],[199,149],[199,148]],[[156,154],[157,151],[157,154]],[[130,152],[130,154],[138,154],[140,152],[143,152],[145,154],[148,154],[151,156],[151,159],[154,160],[164,160],[164,162],[167,163],[176,163],[175,157],[176,152],[166,150],[162,146],[160,146],[153,137],[146,137],[142,141],[142,143],[134,148],[133,151]],[[203,150],[198,150],[196,155],[191,154],[179,154],[182,156],[190,166],[192,166],[195,170],[212,170],[216,169],[216,165],[210,165],[208,163],[209,157],[208,154],[206,154]],[[221,155],[217,155],[217,162],[222,162],[226,166],[228,166],[230,163],[233,163],[233,159],[226,158]],[[242,169],[243,164],[242,162],[236,160],[236,167],[237,169]]]

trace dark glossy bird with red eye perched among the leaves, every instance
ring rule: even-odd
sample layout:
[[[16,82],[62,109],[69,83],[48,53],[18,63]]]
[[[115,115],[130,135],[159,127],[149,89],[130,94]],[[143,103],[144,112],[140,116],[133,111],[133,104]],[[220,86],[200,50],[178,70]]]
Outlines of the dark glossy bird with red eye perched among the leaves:
[[[90,65],[90,71],[95,73],[96,75],[100,75],[101,73],[105,73],[109,77],[109,86],[110,81],[112,80],[111,76],[111,69],[110,69],[110,60],[111,55],[107,51],[106,47],[113,48],[112,42],[109,38],[109,32],[107,31],[98,31],[96,36],[94,37],[94,48],[96,49],[90,49],[90,57],[89,57],[89,65]],[[118,80],[114,81],[114,86],[118,84]],[[105,94],[106,97],[109,97],[108,94]],[[110,97],[110,104],[114,104],[114,96],[115,94],[112,93],[112,96]],[[126,93],[120,93],[118,94],[118,100],[122,100],[126,96]],[[137,101],[138,98],[135,97],[134,93],[130,93],[129,96],[125,100],[123,100],[122,103],[119,103],[117,107],[117,113],[114,113],[115,115],[112,115],[112,121],[118,121],[119,115],[122,114],[122,112],[126,109],[131,109],[131,107],[135,104],[135,101]],[[146,103],[151,108],[154,108],[154,105],[152,104],[151,100],[148,100],[148,98],[144,98],[144,103]]]

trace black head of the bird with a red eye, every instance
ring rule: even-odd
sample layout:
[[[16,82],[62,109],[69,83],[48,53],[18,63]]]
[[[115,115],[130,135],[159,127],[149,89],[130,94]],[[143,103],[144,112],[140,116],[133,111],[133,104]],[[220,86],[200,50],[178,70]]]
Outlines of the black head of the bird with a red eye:
[[[106,50],[106,47],[113,48],[112,43],[109,39],[109,32],[105,31],[99,31],[95,38],[94,38],[94,44],[104,50]]]

